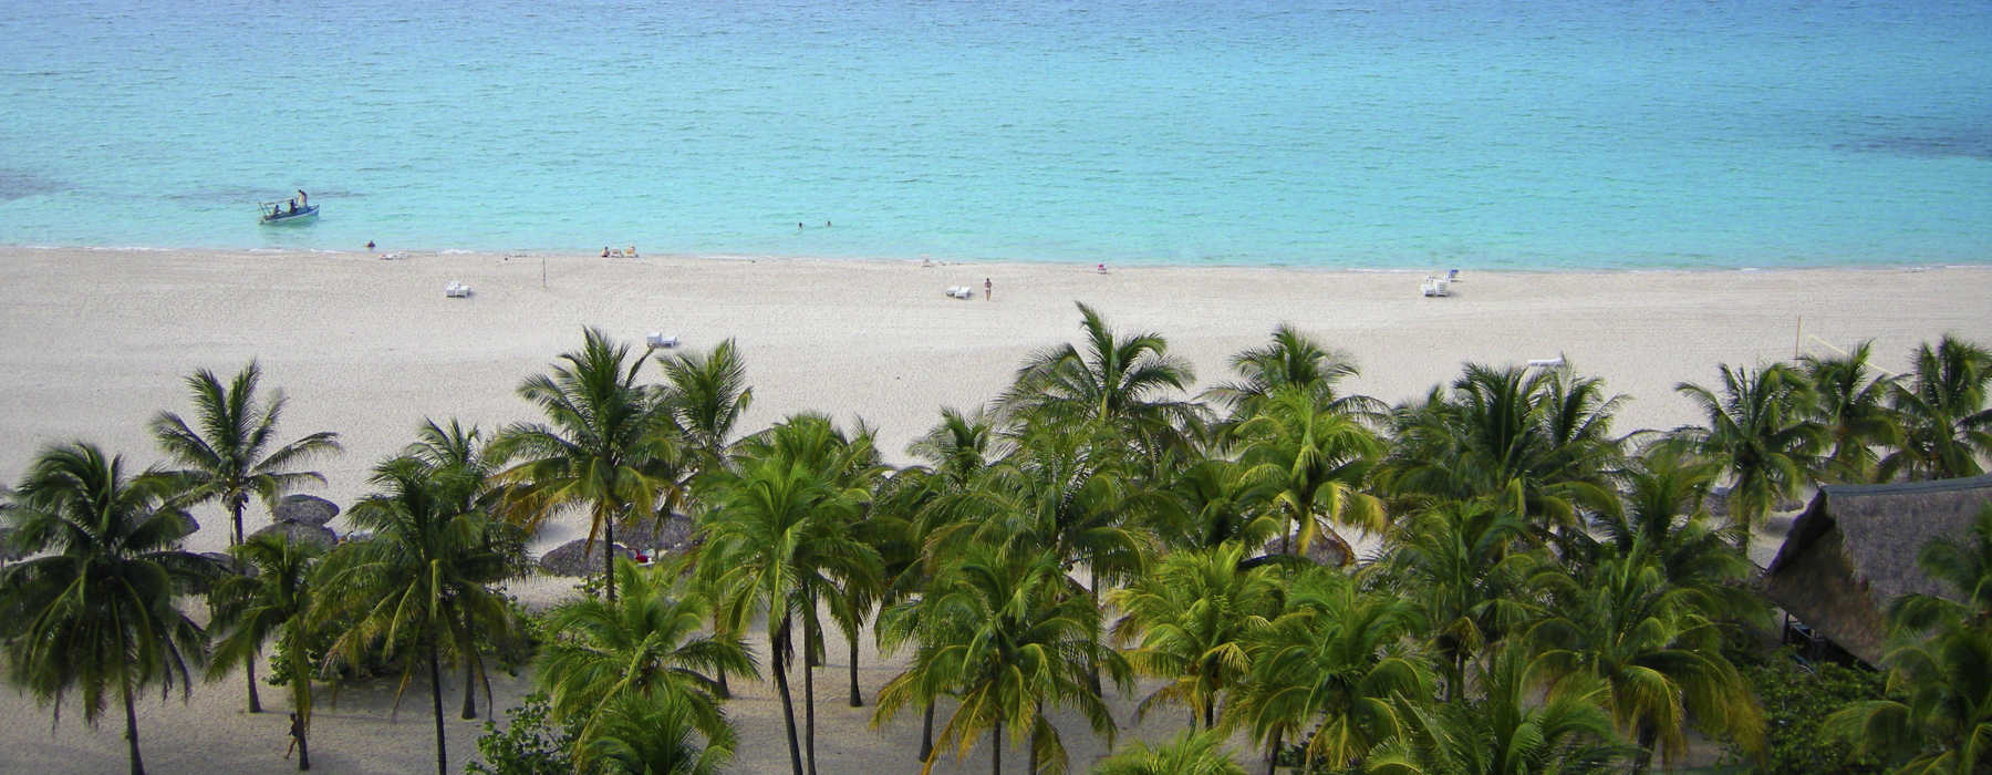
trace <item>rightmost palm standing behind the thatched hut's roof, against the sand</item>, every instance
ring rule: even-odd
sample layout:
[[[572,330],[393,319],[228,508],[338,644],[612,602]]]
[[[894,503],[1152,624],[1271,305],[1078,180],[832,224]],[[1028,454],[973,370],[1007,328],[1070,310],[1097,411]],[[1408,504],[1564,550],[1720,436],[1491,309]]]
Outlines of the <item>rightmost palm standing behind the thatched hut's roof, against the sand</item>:
[[[1984,472],[1992,454],[1992,353],[1944,337],[1916,349],[1914,369],[1888,394],[1902,420],[1902,446],[1880,462],[1880,476],[1956,478]]]

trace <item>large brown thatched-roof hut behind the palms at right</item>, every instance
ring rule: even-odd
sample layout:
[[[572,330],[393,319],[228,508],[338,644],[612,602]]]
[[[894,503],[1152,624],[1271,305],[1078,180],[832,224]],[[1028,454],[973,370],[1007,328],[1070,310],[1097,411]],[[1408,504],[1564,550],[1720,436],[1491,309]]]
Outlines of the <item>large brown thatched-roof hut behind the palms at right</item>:
[[[1992,476],[1823,486],[1793,522],[1763,594],[1849,653],[1888,651],[1888,602],[1920,592],[1956,598],[1916,568],[1930,538],[1964,538],[1992,502]]]

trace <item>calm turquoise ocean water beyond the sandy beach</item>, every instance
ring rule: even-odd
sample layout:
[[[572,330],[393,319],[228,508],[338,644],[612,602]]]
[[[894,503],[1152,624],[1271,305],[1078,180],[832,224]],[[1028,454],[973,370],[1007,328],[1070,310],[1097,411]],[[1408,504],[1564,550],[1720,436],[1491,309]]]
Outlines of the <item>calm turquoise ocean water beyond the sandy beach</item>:
[[[10,245],[1637,269],[1988,225],[1988,2],[0,4]]]

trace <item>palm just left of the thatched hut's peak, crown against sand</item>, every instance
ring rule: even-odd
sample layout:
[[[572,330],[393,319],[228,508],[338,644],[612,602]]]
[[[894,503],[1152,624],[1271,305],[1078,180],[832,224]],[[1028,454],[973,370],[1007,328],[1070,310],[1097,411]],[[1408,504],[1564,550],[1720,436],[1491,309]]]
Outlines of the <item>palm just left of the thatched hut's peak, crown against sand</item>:
[[[1749,530],[1807,482],[1825,430],[1807,418],[1811,387],[1791,367],[1753,373],[1725,363],[1721,377],[1721,396],[1695,383],[1675,387],[1709,418],[1707,426],[1677,428],[1675,436],[1723,464],[1731,480],[1729,518]]]

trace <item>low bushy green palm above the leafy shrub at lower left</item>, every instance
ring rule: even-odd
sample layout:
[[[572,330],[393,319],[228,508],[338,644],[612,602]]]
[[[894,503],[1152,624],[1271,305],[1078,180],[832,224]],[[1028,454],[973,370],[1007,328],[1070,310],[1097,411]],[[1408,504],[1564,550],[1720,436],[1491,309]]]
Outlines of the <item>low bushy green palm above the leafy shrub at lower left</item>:
[[[703,636],[707,604],[671,598],[675,576],[616,564],[622,598],[564,604],[548,620],[554,638],[542,647],[534,679],[554,703],[554,719],[582,719],[576,745],[586,749],[625,697],[675,705],[707,739],[731,737],[719,709],[717,669],[755,675],[753,657],[729,636]]]

